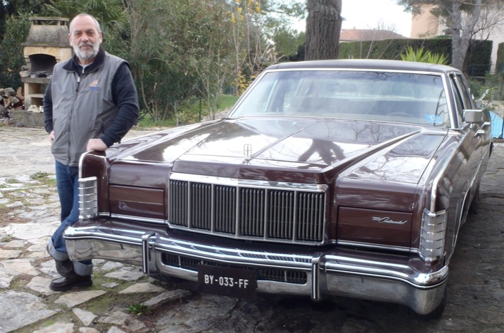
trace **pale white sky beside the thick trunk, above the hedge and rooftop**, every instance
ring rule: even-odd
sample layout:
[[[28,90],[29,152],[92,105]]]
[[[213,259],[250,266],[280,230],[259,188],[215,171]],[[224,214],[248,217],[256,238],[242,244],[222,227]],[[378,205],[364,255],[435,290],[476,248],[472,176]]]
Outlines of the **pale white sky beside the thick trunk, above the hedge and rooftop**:
[[[394,28],[396,33],[409,37],[411,13],[406,13],[395,0],[342,0],[343,29]],[[293,27],[305,30],[305,20]],[[391,30],[391,29],[389,29]]]

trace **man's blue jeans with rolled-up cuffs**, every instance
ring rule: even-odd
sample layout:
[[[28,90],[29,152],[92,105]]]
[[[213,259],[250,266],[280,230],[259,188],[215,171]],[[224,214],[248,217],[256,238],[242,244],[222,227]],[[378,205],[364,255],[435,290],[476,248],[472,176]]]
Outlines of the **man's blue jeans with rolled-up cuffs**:
[[[56,229],[48,244],[49,254],[56,260],[68,260],[63,231],[79,220],[79,168],[56,161],[56,187],[61,203],[61,225]],[[91,260],[74,262],[75,273],[90,275],[93,272]]]

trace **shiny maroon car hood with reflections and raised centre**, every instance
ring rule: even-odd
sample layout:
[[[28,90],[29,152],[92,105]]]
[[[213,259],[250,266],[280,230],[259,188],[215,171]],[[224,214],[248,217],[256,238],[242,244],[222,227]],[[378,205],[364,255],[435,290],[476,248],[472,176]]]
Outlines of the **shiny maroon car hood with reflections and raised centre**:
[[[204,176],[324,183],[345,174],[416,184],[445,136],[414,125],[251,117],[169,129],[110,155],[114,164],[169,164]]]

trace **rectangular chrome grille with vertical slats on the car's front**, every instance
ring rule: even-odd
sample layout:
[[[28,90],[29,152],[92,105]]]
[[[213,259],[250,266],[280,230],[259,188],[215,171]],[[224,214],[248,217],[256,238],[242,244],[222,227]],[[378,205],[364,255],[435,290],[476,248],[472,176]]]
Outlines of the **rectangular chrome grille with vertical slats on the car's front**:
[[[202,233],[322,243],[325,192],[171,180],[169,223]]]

